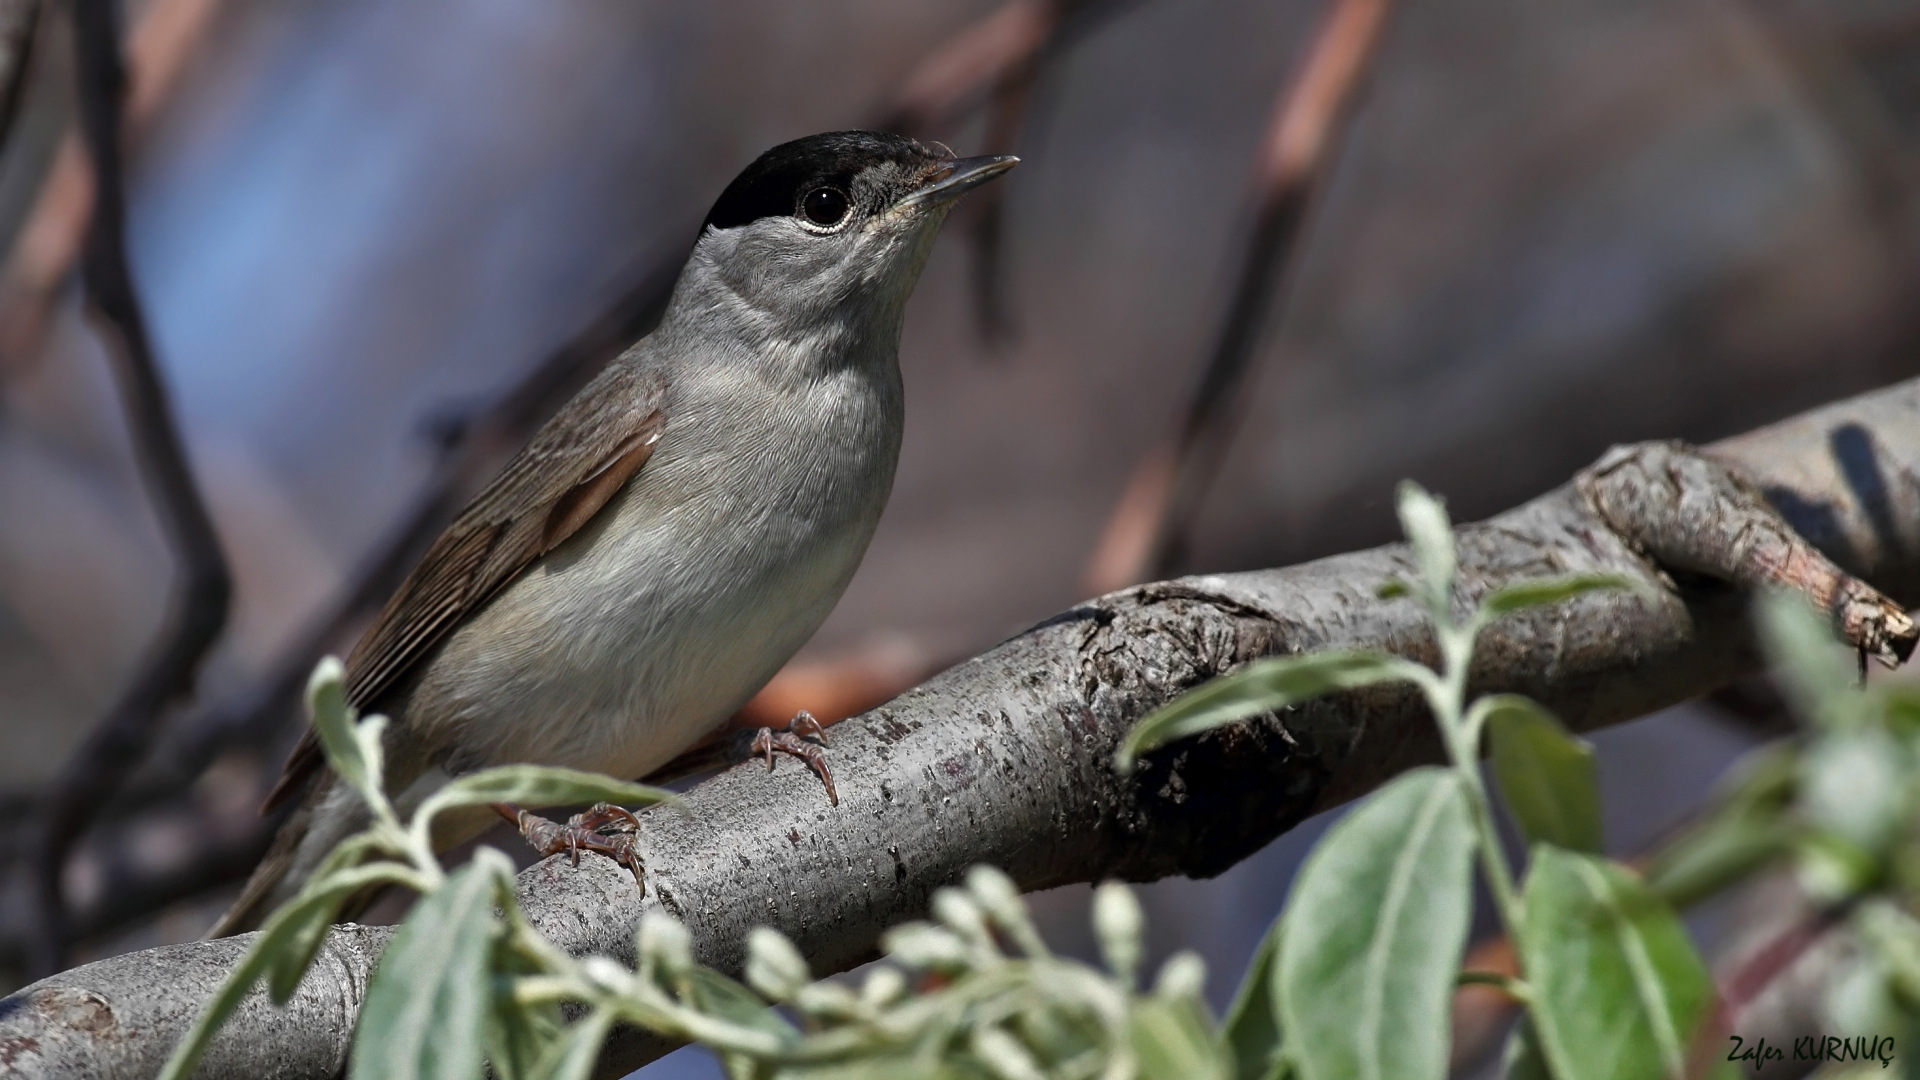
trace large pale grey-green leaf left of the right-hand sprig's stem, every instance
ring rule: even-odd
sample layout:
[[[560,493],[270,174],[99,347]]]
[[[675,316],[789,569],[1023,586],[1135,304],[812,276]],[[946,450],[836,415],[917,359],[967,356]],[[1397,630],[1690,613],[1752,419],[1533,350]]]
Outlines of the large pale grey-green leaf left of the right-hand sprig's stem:
[[[1473,851],[1467,796],[1444,769],[1400,776],[1313,847],[1277,961],[1302,1080],[1446,1076]]]

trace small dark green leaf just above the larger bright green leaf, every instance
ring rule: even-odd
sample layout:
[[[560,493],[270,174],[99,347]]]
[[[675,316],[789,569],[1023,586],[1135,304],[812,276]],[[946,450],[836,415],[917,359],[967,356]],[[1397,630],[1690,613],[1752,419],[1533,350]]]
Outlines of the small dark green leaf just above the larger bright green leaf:
[[[1599,780],[1594,748],[1567,734],[1551,713],[1517,694],[1480,698],[1494,776],[1528,842],[1599,851]]]

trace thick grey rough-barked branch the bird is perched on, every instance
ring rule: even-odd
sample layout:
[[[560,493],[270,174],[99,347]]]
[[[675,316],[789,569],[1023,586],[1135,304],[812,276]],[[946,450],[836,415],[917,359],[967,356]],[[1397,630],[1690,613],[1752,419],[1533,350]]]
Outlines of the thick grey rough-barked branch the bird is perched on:
[[[1755,671],[1740,586],[1766,580],[1805,588],[1862,648],[1905,653],[1912,623],[1841,571],[1901,603],[1920,596],[1916,471],[1920,382],[1705,454],[1615,450],[1465,527],[1457,600],[1580,571],[1638,577],[1651,592],[1590,594],[1496,625],[1475,682],[1530,694],[1582,730],[1645,715]],[[747,763],[693,788],[689,817],[643,815],[645,899],[624,869],[588,857],[528,869],[522,903],[574,953],[632,961],[641,911],[660,905],[722,970],[741,967],[747,928],[770,924],[824,972],[868,959],[885,926],[981,861],[1025,888],[1217,874],[1309,813],[1434,759],[1413,696],[1369,690],[1290,709],[1160,751],[1133,776],[1110,769],[1116,742],[1154,705],[1254,657],[1371,646],[1430,659],[1417,607],[1375,596],[1409,573],[1407,552],[1388,546],[1091,600],[837,724],[839,809],[803,767],[768,776]],[[290,1011],[255,999],[202,1076],[334,1074],[384,938],[340,928]],[[150,1076],[246,942],[115,957],[8,997],[0,1068]],[[603,1065],[632,1068],[660,1049],[628,1034]]]

